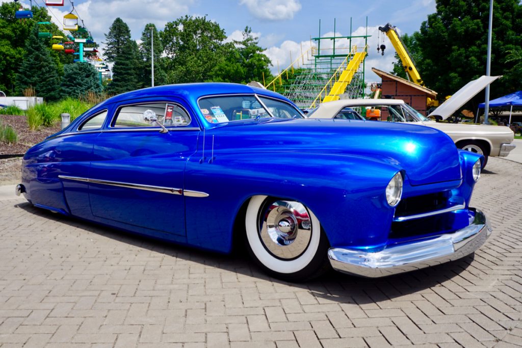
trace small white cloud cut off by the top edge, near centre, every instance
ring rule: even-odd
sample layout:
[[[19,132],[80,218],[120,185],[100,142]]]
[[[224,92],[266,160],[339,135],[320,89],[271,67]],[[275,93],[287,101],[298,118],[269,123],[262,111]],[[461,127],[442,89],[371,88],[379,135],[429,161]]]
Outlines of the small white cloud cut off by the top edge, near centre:
[[[301,9],[299,0],[241,0],[248,11],[259,19],[284,20],[292,19]]]

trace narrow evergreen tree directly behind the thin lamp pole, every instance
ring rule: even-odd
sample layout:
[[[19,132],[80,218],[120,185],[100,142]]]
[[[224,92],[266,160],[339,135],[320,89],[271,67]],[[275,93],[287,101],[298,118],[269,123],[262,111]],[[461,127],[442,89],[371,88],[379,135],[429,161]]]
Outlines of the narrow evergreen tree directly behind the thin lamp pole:
[[[165,74],[165,70],[163,69],[163,58],[161,57],[163,54],[163,44],[161,43],[156,26],[149,23],[141,33],[141,44],[139,45],[141,60],[145,62],[141,70],[143,72],[142,80],[144,87],[150,86],[151,83],[151,38],[154,39],[154,85],[161,86],[167,83],[167,74]]]

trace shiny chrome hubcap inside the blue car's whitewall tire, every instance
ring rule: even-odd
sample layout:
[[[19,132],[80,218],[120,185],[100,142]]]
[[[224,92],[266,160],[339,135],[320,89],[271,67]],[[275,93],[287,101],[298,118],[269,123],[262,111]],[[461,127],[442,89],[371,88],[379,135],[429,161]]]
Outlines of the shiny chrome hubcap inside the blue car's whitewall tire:
[[[312,237],[310,214],[299,202],[267,200],[259,216],[259,238],[270,254],[285,260],[304,253]]]

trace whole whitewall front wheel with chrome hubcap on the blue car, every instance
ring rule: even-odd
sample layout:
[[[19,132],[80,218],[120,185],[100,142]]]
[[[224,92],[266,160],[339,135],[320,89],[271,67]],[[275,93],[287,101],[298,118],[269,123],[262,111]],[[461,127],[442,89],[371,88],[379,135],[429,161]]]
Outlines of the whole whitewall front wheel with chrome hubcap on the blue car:
[[[245,227],[250,254],[274,277],[305,281],[328,269],[328,240],[319,220],[302,203],[254,196]]]

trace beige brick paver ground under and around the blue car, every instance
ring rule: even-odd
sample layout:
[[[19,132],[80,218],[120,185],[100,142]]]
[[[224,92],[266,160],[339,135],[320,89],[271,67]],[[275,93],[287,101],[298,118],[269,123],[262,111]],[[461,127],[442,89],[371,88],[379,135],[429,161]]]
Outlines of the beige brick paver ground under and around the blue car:
[[[290,284],[244,256],[151,242],[0,201],[0,347],[522,345],[522,164],[491,158],[474,257]]]

